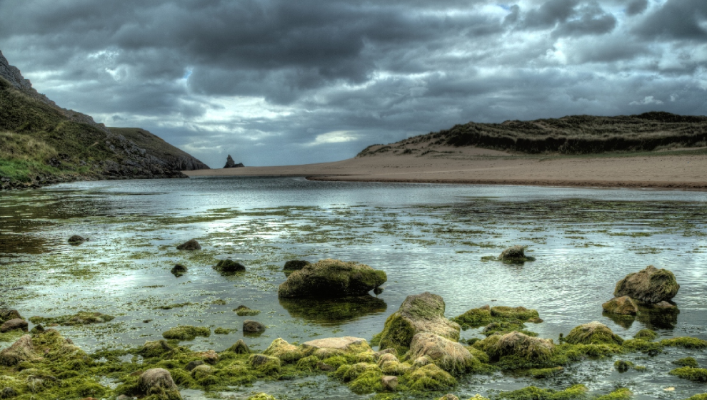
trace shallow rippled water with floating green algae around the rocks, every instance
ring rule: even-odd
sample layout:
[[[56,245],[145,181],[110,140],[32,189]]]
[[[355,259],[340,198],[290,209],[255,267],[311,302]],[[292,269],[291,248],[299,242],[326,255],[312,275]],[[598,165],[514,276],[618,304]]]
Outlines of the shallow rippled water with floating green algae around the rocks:
[[[661,337],[707,339],[706,205],[707,193],[701,192],[303,178],[127,180],[0,193],[0,307],[19,309],[25,317],[79,309],[116,315],[106,324],[59,328],[89,352],[143,344],[179,324],[238,328],[183,342],[221,351],[243,337],[244,319],[268,326],[260,337],[244,338],[254,349],[265,349],[276,337],[371,339],[408,294],[425,291],[445,299],[447,317],[483,304],[538,309],[545,322],[528,329],[541,337],[556,338],[598,320],[626,338],[650,327]],[[66,244],[74,234],[91,240]],[[204,250],[175,250],[192,237]],[[515,244],[528,245],[536,261],[481,260]],[[248,272],[222,277],[211,269],[226,257]],[[384,292],[355,301],[277,299],[286,260],[329,257],[384,270]],[[176,262],[189,272],[171,275]],[[616,282],[646,265],[676,274],[676,319],[614,322],[603,316],[601,303],[612,297]],[[184,303],[191,304],[159,308]],[[232,310],[239,304],[261,314],[238,317]],[[462,337],[481,334],[470,329]],[[667,374],[670,361],[686,354],[707,361],[703,352],[666,349],[650,359],[622,357],[648,366],[645,372],[618,374],[614,360],[604,359],[575,364],[550,380],[468,376],[454,393],[461,398],[531,384],[564,389],[583,383],[602,394],[621,385],[638,398],[684,399],[707,391]],[[234,396],[262,390],[290,398],[356,397],[326,377],[311,381],[319,386],[314,392],[303,382],[261,382],[234,389]],[[667,386],[676,391],[664,391]],[[197,391],[184,394],[201,397]]]

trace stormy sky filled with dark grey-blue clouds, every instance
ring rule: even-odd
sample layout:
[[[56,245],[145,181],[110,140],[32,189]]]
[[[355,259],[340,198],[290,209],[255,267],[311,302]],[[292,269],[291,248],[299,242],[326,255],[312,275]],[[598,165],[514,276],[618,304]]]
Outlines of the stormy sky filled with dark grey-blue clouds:
[[[60,106],[212,168],[469,120],[707,114],[705,0],[1,1],[0,50]]]

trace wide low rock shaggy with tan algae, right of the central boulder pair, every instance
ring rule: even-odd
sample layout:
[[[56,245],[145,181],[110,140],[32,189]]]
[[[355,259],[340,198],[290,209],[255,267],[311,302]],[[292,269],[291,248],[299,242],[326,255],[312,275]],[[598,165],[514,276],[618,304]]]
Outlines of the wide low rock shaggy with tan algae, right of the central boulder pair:
[[[490,340],[488,351],[486,352],[489,355],[493,355],[494,358],[515,356],[532,361],[546,361],[555,352],[555,345],[551,340],[530,337],[520,332],[511,332],[497,337],[493,344],[491,344],[491,341],[493,341],[491,338],[493,337],[485,339]],[[483,346],[481,342],[479,345]]]

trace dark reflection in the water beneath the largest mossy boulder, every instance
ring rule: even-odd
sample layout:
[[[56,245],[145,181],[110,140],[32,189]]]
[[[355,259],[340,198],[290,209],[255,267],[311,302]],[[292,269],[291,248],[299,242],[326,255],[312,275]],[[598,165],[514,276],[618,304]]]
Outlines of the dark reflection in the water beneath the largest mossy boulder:
[[[369,314],[385,312],[388,304],[373,297],[342,297],[339,299],[280,299],[280,305],[293,318],[302,318],[322,326],[353,321]]]

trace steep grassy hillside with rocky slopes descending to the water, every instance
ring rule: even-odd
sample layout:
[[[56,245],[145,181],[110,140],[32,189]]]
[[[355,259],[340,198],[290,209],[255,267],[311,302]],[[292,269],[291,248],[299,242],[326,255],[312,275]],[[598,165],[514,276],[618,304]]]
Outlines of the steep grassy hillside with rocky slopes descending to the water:
[[[0,104],[0,190],[71,180],[186,178],[182,170],[209,168],[146,130],[108,128],[57,106],[1,51]]]

